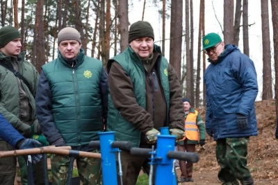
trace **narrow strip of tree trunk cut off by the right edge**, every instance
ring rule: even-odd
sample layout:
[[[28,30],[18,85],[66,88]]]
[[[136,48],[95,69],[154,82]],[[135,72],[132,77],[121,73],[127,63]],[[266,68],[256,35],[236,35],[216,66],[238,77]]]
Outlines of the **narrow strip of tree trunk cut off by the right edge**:
[[[273,45],[274,45],[274,64],[275,64],[275,108],[276,119],[278,118],[278,1],[271,0],[272,26],[273,26]]]

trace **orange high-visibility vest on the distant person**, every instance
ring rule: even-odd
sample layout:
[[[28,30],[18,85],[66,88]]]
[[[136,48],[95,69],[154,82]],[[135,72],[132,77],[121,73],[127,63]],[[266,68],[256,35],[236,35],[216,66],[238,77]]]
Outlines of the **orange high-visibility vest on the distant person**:
[[[199,141],[199,129],[197,127],[197,116],[198,112],[195,110],[195,113],[189,112],[186,116],[185,124],[184,124],[184,138],[193,141]]]

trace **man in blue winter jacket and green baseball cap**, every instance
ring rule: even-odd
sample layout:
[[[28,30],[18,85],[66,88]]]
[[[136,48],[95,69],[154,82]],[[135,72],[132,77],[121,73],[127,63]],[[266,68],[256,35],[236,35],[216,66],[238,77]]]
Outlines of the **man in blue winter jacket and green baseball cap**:
[[[258,94],[256,70],[237,46],[224,45],[216,33],[203,38],[208,55],[206,85],[206,133],[216,141],[218,178],[223,184],[254,184],[247,168],[247,143],[256,136],[254,101]]]

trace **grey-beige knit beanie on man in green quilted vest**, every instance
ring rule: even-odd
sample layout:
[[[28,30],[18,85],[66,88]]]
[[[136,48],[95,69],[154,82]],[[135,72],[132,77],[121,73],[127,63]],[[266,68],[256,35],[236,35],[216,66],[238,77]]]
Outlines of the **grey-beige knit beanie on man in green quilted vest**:
[[[76,40],[81,44],[81,37],[76,28],[65,27],[58,33],[58,44],[64,40]]]

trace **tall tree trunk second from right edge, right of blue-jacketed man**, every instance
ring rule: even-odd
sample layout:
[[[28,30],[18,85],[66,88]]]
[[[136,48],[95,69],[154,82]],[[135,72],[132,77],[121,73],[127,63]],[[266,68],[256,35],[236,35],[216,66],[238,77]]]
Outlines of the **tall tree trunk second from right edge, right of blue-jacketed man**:
[[[272,72],[270,51],[268,1],[261,0],[261,32],[263,39],[263,94],[262,100],[272,99]]]

